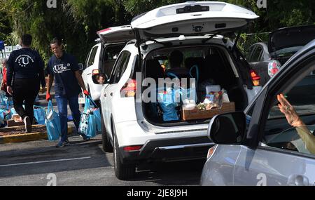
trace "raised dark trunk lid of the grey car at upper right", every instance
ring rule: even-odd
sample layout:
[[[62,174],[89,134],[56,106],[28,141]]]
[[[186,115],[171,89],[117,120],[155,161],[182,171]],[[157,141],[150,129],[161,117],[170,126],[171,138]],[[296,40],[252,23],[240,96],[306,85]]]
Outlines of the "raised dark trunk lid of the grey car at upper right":
[[[315,25],[276,29],[269,35],[268,51],[272,58],[276,59],[281,50],[291,48],[288,51],[296,52],[313,39],[315,39]]]

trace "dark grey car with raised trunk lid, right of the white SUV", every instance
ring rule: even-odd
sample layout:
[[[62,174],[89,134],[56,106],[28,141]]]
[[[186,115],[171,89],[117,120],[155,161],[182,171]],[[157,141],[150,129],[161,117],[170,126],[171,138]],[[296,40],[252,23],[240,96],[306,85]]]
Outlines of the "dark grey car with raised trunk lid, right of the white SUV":
[[[313,39],[315,25],[276,29],[269,34],[268,42],[253,44],[246,50],[246,60],[260,76],[260,84],[264,86],[294,53]]]

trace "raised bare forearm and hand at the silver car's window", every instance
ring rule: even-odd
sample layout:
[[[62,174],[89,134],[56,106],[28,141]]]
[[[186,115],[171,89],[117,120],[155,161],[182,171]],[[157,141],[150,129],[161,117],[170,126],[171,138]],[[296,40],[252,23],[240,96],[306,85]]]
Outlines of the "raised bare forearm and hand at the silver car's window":
[[[300,138],[305,143],[305,147],[311,154],[315,154],[315,136],[311,134],[307,126],[304,124],[300,116],[298,116],[294,107],[290,105],[290,102],[286,100],[283,94],[277,95],[277,99],[280,104],[280,111],[286,116],[288,124],[295,127],[297,134],[300,135]]]

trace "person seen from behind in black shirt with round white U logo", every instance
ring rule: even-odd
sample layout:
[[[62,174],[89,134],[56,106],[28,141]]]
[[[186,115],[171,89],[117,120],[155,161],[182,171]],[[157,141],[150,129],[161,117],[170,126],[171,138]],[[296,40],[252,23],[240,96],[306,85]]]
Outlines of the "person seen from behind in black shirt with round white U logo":
[[[27,133],[31,133],[34,119],[34,100],[38,95],[39,84],[45,91],[44,63],[37,51],[31,50],[31,35],[21,38],[22,48],[10,53],[7,62],[7,91],[13,95],[15,111],[22,117]],[[23,108],[25,103],[25,109]]]

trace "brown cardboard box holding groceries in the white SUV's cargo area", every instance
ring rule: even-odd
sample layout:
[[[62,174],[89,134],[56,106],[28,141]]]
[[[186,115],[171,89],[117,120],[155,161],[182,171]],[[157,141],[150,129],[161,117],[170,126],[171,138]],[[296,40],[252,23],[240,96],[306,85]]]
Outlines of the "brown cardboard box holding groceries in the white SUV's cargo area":
[[[235,112],[235,102],[223,102],[220,109],[199,110],[197,107],[195,107],[195,109],[182,109],[181,119],[183,119],[183,121],[193,119],[211,119],[216,114],[225,112]]]

